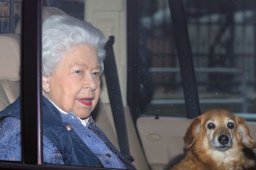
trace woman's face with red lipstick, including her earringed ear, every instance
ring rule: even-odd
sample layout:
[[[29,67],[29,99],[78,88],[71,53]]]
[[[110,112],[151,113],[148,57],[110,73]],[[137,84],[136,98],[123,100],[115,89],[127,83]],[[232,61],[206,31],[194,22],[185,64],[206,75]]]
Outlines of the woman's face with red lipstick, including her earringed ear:
[[[96,49],[85,44],[76,46],[65,54],[52,75],[43,77],[42,83],[44,97],[65,112],[87,118],[101,91]]]

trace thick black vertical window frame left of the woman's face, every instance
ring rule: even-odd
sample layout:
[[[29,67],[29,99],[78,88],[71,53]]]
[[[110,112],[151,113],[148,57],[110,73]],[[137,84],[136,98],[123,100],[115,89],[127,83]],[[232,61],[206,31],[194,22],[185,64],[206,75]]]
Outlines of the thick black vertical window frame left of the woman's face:
[[[38,165],[41,163],[41,154],[38,152],[41,148],[41,0],[23,1],[22,15],[21,134],[23,138],[21,143],[23,163]]]

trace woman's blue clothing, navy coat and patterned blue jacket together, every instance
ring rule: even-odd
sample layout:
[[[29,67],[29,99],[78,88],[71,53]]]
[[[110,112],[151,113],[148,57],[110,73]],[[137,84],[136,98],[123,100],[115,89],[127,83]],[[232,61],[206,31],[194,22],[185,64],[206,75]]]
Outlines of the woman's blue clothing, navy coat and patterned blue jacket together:
[[[43,162],[135,169],[90,117],[88,126],[76,115],[60,114],[42,97]],[[0,160],[21,161],[20,98],[0,112]]]

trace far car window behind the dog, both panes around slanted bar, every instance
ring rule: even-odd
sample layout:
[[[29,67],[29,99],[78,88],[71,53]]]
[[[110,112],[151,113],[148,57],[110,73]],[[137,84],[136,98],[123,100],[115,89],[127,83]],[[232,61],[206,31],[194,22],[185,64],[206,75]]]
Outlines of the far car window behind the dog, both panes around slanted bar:
[[[138,1],[138,114],[185,117],[168,1]],[[201,111],[255,114],[254,1],[183,1]],[[185,50],[185,49],[184,49]],[[186,71],[186,70],[184,70]],[[135,86],[135,85],[134,85]],[[135,89],[135,88],[133,88]],[[190,100],[193,100],[191,98]]]

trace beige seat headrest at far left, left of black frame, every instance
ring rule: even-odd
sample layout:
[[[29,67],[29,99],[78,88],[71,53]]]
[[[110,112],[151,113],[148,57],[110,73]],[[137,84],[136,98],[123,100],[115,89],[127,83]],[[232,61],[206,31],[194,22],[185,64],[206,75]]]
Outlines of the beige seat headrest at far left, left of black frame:
[[[0,80],[20,80],[20,34],[0,34]]]

